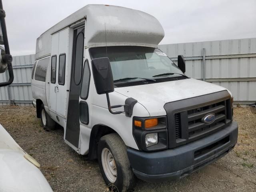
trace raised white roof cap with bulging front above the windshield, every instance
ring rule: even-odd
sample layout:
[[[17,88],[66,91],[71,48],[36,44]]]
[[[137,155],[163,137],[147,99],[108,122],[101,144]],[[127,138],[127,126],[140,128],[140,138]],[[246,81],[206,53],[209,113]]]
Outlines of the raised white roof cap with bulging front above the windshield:
[[[118,6],[87,5],[37,38],[35,58],[51,53],[51,34],[83,18],[86,18],[86,47],[106,44],[157,47],[164,37],[160,22],[150,14]]]

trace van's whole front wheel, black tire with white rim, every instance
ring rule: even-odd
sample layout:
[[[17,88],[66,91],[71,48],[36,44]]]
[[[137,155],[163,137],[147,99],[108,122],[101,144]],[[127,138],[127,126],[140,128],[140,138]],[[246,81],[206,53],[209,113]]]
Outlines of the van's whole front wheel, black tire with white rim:
[[[127,156],[126,145],[118,134],[112,133],[100,138],[98,162],[108,186],[115,186],[119,192],[128,192],[133,187],[135,177]]]

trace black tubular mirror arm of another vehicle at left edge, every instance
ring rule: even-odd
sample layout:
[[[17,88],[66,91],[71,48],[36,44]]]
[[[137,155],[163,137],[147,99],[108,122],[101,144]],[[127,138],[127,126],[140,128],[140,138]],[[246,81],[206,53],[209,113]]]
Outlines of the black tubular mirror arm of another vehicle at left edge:
[[[1,82],[0,87],[10,85],[14,79],[12,70],[12,56],[10,55],[4,18],[5,12],[3,10],[2,0],[0,0],[0,45],[4,45],[4,47],[0,46],[0,73],[4,73],[7,68],[9,73],[9,80],[7,82]]]

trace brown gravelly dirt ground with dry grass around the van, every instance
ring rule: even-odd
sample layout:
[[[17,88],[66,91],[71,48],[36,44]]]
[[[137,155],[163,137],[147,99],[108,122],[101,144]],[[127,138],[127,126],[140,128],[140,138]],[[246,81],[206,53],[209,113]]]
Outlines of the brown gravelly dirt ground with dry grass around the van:
[[[182,180],[149,184],[138,181],[135,192],[256,191],[256,114],[235,108],[238,144],[228,155]],[[78,155],[63,140],[63,128],[43,130],[33,107],[1,106],[0,124],[41,164],[54,192],[104,192],[97,161]]]

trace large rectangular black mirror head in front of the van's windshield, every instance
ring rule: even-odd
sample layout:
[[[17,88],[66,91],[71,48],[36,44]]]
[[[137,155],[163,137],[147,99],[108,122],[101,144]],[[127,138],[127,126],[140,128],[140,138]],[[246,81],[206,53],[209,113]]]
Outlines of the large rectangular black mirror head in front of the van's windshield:
[[[92,59],[92,74],[98,94],[114,91],[114,81],[108,57]]]

